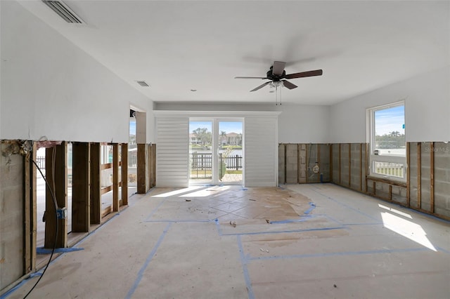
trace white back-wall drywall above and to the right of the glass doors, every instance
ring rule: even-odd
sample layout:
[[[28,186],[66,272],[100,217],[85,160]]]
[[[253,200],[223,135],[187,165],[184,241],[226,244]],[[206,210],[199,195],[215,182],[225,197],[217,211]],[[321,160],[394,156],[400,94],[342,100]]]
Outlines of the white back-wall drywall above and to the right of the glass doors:
[[[177,111],[276,111],[278,140],[281,143],[326,143],[329,136],[330,108],[319,105],[294,104],[188,104],[155,103],[155,110]]]

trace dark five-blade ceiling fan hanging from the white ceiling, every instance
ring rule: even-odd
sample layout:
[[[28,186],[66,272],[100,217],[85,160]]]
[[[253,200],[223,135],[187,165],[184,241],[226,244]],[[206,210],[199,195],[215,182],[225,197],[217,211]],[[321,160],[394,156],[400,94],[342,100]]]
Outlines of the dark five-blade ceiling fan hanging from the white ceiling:
[[[264,84],[261,84],[260,86],[253,88],[252,91],[257,91],[260,88],[263,88],[266,85],[271,86],[285,86],[286,88],[293,89],[297,88],[297,85],[290,83],[289,81],[285,79],[295,79],[295,78],[303,78],[303,77],[314,77],[314,76],[321,76],[322,70],[316,69],[314,71],[307,71],[307,72],[300,72],[300,73],[294,73],[294,74],[286,74],[286,71],[284,69],[286,65],[286,62],[281,61],[274,61],[274,65],[272,65],[269,69],[269,71],[266,73],[266,77],[234,77],[235,79],[268,79],[271,81],[267,81]]]

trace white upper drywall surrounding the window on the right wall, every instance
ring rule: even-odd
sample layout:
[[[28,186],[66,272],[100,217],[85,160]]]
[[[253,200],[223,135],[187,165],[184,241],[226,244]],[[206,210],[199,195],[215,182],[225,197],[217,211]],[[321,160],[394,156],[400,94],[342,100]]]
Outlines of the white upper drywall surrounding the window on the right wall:
[[[450,67],[330,107],[330,142],[366,142],[366,109],[405,102],[406,141],[450,140]]]

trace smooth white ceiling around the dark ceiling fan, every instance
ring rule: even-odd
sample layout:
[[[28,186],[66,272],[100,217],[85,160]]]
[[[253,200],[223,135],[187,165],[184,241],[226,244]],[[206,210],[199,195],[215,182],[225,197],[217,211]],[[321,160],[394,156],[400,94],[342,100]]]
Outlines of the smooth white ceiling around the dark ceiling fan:
[[[449,1],[64,2],[86,25],[20,3],[155,102],[274,102],[268,86],[249,92],[264,81],[234,79],[274,60],[288,74],[323,69],[283,88],[283,102],[307,105],[450,64]]]

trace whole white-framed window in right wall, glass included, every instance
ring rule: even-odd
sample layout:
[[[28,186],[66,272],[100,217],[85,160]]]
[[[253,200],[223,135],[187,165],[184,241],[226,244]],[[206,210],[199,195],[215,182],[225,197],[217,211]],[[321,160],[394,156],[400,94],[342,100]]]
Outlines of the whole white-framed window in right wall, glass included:
[[[373,176],[406,180],[405,105],[367,110],[370,142],[370,173]]]

